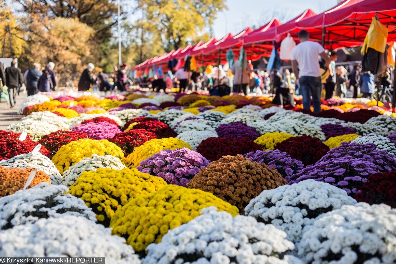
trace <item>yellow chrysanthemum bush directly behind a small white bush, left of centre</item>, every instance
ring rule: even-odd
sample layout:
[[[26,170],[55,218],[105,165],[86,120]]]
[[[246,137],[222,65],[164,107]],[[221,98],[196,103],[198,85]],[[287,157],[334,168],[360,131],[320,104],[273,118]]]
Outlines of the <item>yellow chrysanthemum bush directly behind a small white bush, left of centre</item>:
[[[52,157],[52,162],[61,174],[68,170],[70,166],[82,161],[82,158],[89,158],[92,154],[112,155],[119,159],[124,157],[121,148],[107,139],[80,139],[72,141],[61,148]]]

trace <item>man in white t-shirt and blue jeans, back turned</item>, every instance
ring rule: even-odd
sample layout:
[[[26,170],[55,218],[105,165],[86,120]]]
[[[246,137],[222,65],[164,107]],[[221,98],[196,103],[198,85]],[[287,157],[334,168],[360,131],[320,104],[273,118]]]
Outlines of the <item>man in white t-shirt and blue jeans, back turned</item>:
[[[319,56],[325,61],[325,68],[330,64],[330,57],[319,43],[309,41],[307,30],[301,30],[298,36],[300,43],[291,51],[291,68],[296,78],[299,79],[304,109],[311,109],[312,95],[314,113],[318,114],[320,112],[320,93],[322,91]]]

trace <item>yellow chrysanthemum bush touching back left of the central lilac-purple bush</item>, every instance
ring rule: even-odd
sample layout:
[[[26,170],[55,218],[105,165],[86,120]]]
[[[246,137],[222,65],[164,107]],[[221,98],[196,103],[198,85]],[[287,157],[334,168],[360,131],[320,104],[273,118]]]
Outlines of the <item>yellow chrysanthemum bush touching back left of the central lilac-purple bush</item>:
[[[164,139],[150,139],[149,141],[146,141],[143,145],[135,148],[135,150],[133,150],[131,154],[124,158],[124,164],[130,169],[136,168],[140,165],[141,161],[150,158],[154,154],[159,153],[161,150],[174,150],[177,148],[192,149],[188,143],[182,141],[181,139],[175,139],[173,137],[168,137]]]

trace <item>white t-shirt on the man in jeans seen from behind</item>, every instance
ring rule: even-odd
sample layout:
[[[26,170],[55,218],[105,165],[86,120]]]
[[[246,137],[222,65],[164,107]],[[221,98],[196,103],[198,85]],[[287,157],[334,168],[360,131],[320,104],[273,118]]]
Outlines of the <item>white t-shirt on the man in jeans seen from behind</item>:
[[[319,54],[324,51],[318,42],[304,41],[291,51],[291,60],[295,60],[299,67],[299,76],[319,77]]]

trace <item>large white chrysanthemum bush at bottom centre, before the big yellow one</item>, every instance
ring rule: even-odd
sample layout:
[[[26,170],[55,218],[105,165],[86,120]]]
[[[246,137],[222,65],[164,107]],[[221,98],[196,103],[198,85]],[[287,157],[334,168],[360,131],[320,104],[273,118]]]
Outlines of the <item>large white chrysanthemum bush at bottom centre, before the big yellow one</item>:
[[[160,243],[148,245],[142,263],[291,263],[293,257],[284,254],[294,245],[273,225],[253,217],[232,217],[214,206],[201,213],[169,230]]]

